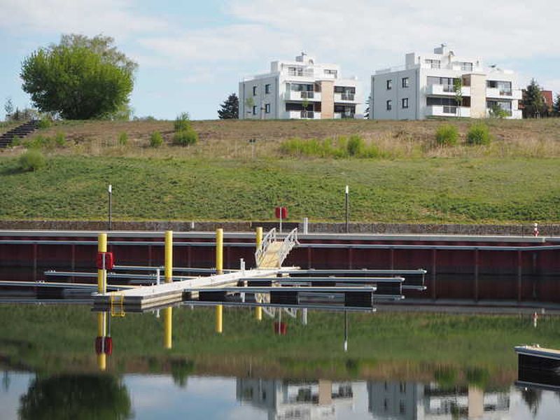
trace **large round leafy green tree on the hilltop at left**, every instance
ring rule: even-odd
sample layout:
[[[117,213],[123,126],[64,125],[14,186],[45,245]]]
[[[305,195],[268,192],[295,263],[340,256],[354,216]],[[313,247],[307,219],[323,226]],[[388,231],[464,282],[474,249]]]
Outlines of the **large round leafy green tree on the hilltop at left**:
[[[26,57],[20,77],[40,111],[87,120],[123,113],[135,69],[137,64],[113,46],[113,38],[71,34]]]

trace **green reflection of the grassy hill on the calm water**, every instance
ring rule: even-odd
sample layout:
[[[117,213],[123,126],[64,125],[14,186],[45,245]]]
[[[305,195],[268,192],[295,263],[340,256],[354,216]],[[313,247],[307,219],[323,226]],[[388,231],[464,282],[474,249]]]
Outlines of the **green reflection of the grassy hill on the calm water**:
[[[88,307],[2,306],[0,316],[0,360],[8,365],[48,372],[94,366],[96,315]],[[225,308],[224,332],[217,335],[213,308],[174,309],[173,349],[165,350],[162,318],[127,314],[112,321],[111,363],[123,371],[127,365],[157,371],[178,358],[192,360],[199,370],[252,360],[255,369],[269,372],[328,371],[342,377],[389,367],[437,376],[445,367],[463,381],[480,372],[512,377],[514,345],[560,346],[557,317],[542,318],[535,329],[530,316],[349,314],[349,351],[344,353],[342,314],[311,311],[308,320],[304,326],[286,317],[288,335],[277,336],[272,319],[259,323],[250,309]]]

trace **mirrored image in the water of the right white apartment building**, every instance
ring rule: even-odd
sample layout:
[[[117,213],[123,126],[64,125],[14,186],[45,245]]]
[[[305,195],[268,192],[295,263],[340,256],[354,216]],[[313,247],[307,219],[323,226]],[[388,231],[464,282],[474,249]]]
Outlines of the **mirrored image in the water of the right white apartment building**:
[[[482,391],[476,386],[441,388],[417,382],[370,381],[369,410],[374,418],[504,419],[509,418],[509,391]]]

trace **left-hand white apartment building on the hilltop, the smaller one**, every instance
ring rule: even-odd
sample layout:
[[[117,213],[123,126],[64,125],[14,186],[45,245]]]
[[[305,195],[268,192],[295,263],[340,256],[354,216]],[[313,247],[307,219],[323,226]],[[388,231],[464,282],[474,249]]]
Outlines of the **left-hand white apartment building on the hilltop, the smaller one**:
[[[240,119],[355,118],[359,104],[356,78],[342,78],[339,66],[316,64],[304,52],[239,83]]]

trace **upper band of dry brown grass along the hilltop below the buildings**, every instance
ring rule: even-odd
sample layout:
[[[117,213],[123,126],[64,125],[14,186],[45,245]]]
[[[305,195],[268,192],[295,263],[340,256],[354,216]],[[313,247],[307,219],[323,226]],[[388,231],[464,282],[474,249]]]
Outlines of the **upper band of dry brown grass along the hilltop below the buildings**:
[[[62,153],[84,155],[134,156],[146,158],[200,157],[251,158],[249,139],[256,139],[255,157],[281,157],[283,141],[326,139],[358,134],[365,143],[379,148],[382,158],[557,158],[560,157],[560,118],[542,120],[485,120],[494,141],[489,146],[465,146],[465,136],[474,120],[457,121],[370,121],[370,120],[207,120],[193,121],[200,141],[195,146],[169,146],[173,137],[172,121],[92,121],[61,123],[41,134],[64,132],[70,148]],[[460,135],[459,145],[435,146],[435,130],[441,124],[454,124]],[[162,148],[150,148],[152,132],[159,131],[165,141]],[[126,132],[127,146],[118,144]]]

